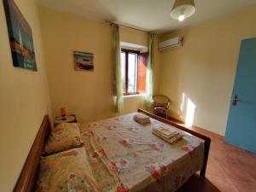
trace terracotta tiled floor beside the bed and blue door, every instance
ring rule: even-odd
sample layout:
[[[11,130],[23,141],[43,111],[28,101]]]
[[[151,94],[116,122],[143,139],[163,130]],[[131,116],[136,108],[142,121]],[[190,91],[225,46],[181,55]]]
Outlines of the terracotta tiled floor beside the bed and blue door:
[[[207,176],[195,174],[177,192],[256,192],[256,154],[224,143],[209,131],[192,129],[212,138]]]

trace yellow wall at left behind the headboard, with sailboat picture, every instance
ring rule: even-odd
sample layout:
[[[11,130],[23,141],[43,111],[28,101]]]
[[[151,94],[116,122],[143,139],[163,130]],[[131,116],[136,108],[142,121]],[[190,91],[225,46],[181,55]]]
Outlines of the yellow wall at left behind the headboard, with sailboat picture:
[[[34,0],[16,0],[32,27],[38,72],[13,67],[3,1],[0,3],[0,186],[12,191],[44,114],[50,111],[44,52]]]

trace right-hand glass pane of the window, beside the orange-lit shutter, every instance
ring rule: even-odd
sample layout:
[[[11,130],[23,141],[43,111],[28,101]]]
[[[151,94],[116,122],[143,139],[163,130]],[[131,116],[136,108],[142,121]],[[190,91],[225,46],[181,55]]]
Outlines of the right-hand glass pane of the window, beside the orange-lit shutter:
[[[128,54],[128,93],[137,92],[137,54]]]

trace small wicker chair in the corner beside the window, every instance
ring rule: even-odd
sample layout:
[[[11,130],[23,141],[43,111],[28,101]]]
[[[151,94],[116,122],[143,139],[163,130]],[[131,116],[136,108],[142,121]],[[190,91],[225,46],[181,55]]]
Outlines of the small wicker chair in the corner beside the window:
[[[163,116],[167,119],[170,99],[167,96],[156,95],[153,96],[153,100],[154,114]]]

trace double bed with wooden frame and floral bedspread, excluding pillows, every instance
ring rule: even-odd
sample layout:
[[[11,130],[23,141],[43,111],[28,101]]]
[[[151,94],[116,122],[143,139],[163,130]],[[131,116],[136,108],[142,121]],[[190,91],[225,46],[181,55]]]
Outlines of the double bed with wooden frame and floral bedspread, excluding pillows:
[[[138,124],[133,120],[135,113],[130,113],[79,125],[91,177],[100,191],[116,185],[118,192],[172,192],[195,172],[205,176],[209,137],[142,109],[138,112],[148,115],[151,123]],[[183,139],[172,145],[166,143],[152,134],[153,127],[158,126],[175,127],[183,132]],[[48,135],[49,120],[44,118],[15,191],[33,191]]]

